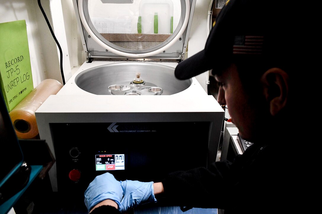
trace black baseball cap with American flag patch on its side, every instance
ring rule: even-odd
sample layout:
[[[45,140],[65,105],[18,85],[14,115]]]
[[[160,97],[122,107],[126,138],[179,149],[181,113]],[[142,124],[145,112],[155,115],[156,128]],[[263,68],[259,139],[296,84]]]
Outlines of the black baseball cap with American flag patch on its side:
[[[285,67],[298,56],[297,1],[228,0],[211,29],[205,48],[181,61],[177,79],[205,71],[217,74],[234,58]],[[298,8],[297,8],[298,9]],[[290,61],[292,59],[293,61]]]

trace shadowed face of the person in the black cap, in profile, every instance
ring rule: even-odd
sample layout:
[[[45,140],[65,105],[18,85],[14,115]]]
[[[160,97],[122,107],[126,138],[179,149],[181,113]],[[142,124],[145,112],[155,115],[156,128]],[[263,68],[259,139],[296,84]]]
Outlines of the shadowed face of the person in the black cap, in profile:
[[[256,126],[260,125],[260,120],[256,120],[259,106],[253,104],[254,99],[244,90],[237,67],[232,64],[221,75],[215,75],[215,79],[219,83],[217,101],[227,105],[232,123],[238,128],[241,137],[249,141],[256,139]]]

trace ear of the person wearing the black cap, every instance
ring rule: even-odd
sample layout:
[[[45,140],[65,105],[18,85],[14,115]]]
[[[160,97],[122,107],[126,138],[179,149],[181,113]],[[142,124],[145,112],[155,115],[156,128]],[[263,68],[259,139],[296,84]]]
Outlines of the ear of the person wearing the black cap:
[[[270,106],[270,114],[276,115],[287,103],[289,76],[280,68],[270,68],[262,76],[264,95]]]

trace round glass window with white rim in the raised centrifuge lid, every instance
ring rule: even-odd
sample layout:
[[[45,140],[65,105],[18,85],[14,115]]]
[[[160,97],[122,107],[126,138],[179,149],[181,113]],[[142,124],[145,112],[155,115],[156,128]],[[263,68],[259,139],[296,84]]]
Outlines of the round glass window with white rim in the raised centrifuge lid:
[[[78,10],[83,27],[101,47],[143,58],[179,40],[188,24],[190,1],[80,0]]]

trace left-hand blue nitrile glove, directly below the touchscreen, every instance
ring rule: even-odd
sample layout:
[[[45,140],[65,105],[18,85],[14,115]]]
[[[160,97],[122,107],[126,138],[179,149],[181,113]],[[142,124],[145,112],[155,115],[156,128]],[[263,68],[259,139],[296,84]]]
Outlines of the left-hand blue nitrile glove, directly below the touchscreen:
[[[115,201],[118,204],[119,210],[120,202],[123,198],[123,188],[112,174],[104,173],[96,176],[87,187],[84,196],[84,202],[88,211],[106,199]]]

